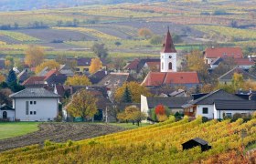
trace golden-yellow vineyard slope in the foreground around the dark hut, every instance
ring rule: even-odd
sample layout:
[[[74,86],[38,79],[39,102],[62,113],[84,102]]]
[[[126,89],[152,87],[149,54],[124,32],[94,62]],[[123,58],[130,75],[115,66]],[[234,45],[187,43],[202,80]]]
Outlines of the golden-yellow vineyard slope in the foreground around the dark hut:
[[[244,131],[246,136],[241,138]],[[207,140],[212,149],[183,150],[181,144],[191,138]],[[170,118],[164,123],[98,138],[9,150],[0,154],[0,163],[250,163],[256,154],[243,156],[242,146],[250,145],[255,138],[255,118],[248,122],[238,119],[206,123],[201,118],[190,122],[187,117],[178,122]]]

